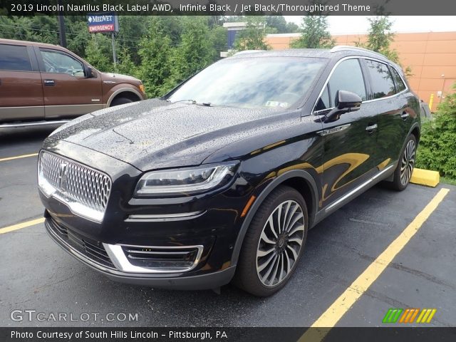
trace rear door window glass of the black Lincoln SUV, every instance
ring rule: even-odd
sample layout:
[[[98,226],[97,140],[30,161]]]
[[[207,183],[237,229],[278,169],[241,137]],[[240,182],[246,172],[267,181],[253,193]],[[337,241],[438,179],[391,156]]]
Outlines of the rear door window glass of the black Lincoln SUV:
[[[371,76],[372,98],[384,98],[396,93],[393,77],[386,64],[366,59],[368,73]]]

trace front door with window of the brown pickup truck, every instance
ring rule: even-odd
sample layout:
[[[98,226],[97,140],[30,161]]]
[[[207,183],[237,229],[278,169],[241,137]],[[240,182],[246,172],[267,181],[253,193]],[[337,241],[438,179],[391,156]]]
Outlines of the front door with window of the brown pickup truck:
[[[101,78],[86,77],[83,61],[52,48],[36,48],[43,79],[46,119],[83,115],[103,108]]]

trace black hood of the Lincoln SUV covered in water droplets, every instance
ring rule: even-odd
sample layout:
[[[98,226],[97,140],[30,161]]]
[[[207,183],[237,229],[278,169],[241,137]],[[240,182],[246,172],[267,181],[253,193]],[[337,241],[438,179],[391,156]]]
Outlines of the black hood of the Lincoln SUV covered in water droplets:
[[[296,120],[299,115],[285,110],[206,107],[152,99],[84,115],[58,128],[51,138],[88,147],[146,171],[199,165],[232,142]]]

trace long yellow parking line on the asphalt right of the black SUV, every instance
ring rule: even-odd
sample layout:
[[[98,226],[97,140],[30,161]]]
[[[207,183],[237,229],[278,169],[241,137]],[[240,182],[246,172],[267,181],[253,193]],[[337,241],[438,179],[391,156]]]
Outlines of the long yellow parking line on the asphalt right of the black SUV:
[[[423,223],[430,217],[437,206],[442,202],[443,198],[449,192],[449,189],[441,189],[437,192],[434,198],[426,205],[420,214],[413,219],[412,222],[404,229],[402,233],[390,243],[388,247],[373,261],[353,283],[348,286],[341,296],[323,312],[323,314],[312,324],[311,329],[308,329],[299,342],[304,341],[322,341],[329,330],[336,325],[344,314],[360,299],[369,286],[378,279],[378,276],[385,271],[388,264],[395,258],[396,255],[405,247],[410,239],[418,232]]]

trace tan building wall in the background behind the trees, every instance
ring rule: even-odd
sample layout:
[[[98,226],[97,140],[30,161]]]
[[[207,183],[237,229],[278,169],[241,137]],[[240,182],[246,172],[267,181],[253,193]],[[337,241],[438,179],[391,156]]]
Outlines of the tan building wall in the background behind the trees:
[[[289,44],[299,34],[272,34],[266,37],[274,49],[289,48]],[[333,36],[338,45],[354,46],[355,42],[366,41],[363,34],[344,34]],[[403,67],[410,66],[413,76],[408,77],[410,87],[421,99],[429,103],[434,94],[432,111],[440,103],[439,92],[452,91],[456,82],[456,31],[396,33],[392,47],[398,51]]]

